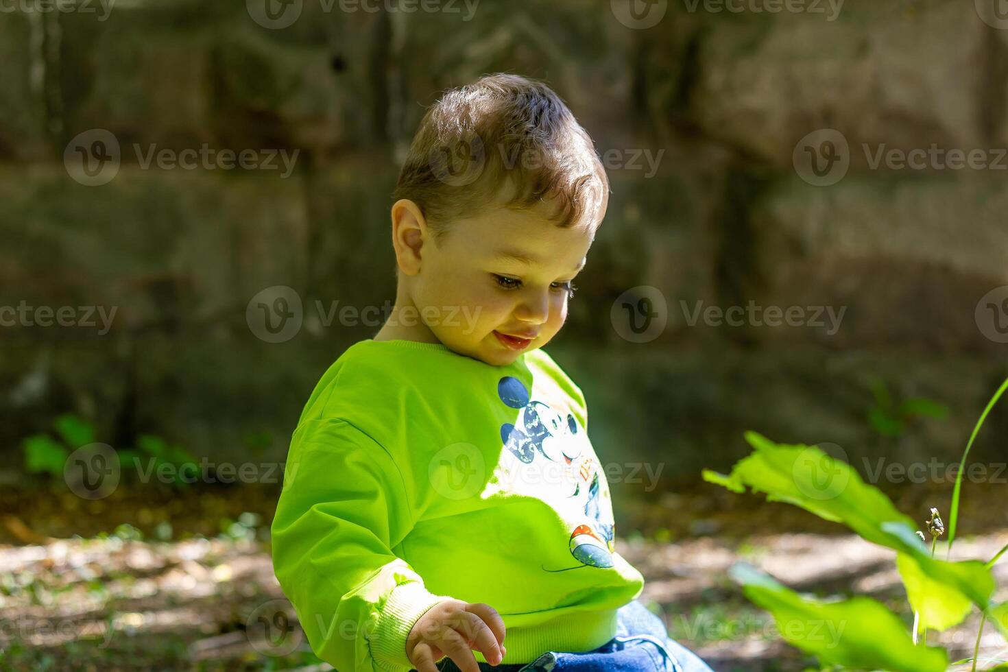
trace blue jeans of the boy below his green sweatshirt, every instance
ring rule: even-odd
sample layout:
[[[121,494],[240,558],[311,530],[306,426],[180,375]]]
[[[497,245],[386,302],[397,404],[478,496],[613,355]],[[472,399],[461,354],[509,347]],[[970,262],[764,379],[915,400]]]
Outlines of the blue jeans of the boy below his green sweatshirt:
[[[697,654],[668,638],[665,626],[639,600],[616,612],[616,637],[584,653],[547,651],[525,665],[480,663],[481,672],[713,672]],[[507,640],[505,639],[505,642]],[[459,672],[446,658],[440,672]]]

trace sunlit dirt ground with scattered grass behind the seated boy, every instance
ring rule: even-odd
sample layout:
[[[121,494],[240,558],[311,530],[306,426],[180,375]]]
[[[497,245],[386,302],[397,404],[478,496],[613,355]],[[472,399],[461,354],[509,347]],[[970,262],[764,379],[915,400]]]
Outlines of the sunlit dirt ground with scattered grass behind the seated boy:
[[[10,512],[0,514],[0,669],[331,669],[273,576],[275,493],[121,488],[86,502],[32,486],[0,493],[0,511]],[[947,494],[894,499],[922,519]],[[1008,543],[1000,491],[968,493],[960,520],[955,559],[988,559]],[[617,550],[646,578],[641,600],[718,672],[817,669],[728,578],[740,560],[795,589],[867,594],[912,620],[892,552],[785,505],[704,485],[624,505],[617,532]],[[1008,599],[1008,562],[995,572],[996,596]],[[978,626],[973,617],[929,641],[967,658]],[[990,626],[981,654],[1008,658]]]

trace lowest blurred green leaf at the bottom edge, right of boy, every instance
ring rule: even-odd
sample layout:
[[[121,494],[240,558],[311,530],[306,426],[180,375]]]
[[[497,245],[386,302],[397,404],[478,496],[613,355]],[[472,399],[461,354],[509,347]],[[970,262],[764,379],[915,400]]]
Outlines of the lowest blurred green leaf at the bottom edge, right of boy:
[[[943,672],[943,649],[914,646],[900,619],[868,597],[823,601],[804,597],[744,563],[730,574],[746,596],[773,615],[781,637],[821,663],[894,672]]]

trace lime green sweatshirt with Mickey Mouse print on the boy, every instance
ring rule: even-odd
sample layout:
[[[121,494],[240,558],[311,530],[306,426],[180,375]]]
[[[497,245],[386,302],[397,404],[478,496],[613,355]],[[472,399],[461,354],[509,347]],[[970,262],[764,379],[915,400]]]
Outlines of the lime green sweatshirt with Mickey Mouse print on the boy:
[[[439,344],[350,347],[304,406],[272,525],[316,654],[406,672],[406,636],[447,598],[497,610],[504,663],[612,639],[644,579],[614,550],[587,428],[584,395],[541,350],[494,367]]]

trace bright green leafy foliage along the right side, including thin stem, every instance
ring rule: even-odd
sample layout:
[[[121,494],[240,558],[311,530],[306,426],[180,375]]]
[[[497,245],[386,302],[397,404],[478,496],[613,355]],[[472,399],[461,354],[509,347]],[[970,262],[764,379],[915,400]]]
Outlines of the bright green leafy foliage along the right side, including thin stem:
[[[981,415],[964,451],[964,462],[991,408],[1006,389],[1008,381],[995,393]],[[935,417],[946,412],[938,405],[917,399],[904,402],[893,413],[894,405],[884,388],[877,390],[878,408],[882,413],[879,417],[886,420],[881,426],[889,430],[901,430],[902,424],[896,421],[914,414]],[[948,652],[926,647],[927,628],[943,631],[957,626],[973,606],[1008,640],[1008,606],[991,601],[995,590],[991,567],[1002,553],[986,564],[976,560],[935,560],[934,542],[944,531],[935,509],[931,509],[929,521],[932,524],[926,526],[932,535],[928,553],[923,533],[914,530],[913,522],[881,491],[864,483],[857,471],[846,462],[816,447],[777,444],[755,432],[748,432],[746,439],[754,448],[752,454],[736,463],[729,475],[705,471],[705,480],[736,493],[744,493],[748,486],[753,492],[765,493],[769,501],[793,504],[826,520],[843,523],[863,539],[897,551],[897,566],[915,615],[914,629],[922,629],[925,646],[918,647],[917,632],[911,640],[898,617],[881,602],[866,597],[840,602],[805,598],[751,566],[737,564],[733,575],[745,586],[747,596],[773,614],[778,623],[806,626],[783,630],[783,637],[789,643],[828,663],[855,668],[939,672],[948,667]],[[960,469],[953,499],[954,526],[962,478]],[[937,523],[933,524],[935,520]],[[950,554],[953,540],[950,535]],[[838,632],[834,640],[826,641],[807,627],[811,623],[843,625],[844,630]],[[983,623],[981,621],[981,629]]]

